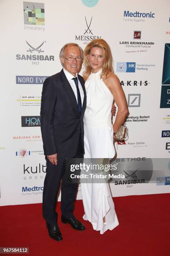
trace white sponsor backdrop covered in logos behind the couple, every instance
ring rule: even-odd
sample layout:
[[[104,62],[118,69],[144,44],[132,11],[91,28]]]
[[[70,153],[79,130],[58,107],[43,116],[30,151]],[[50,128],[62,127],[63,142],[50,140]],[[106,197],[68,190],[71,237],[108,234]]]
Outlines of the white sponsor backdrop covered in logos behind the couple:
[[[112,195],[169,192],[169,161],[157,182],[145,183],[141,175],[133,182],[145,158],[170,156],[169,0],[154,5],[152,0],[2,0],[0,9],[0,205],[42,202],[42,84],[61,70],[59,51],[65,43],[84,49],[94,38],[104,38],[111,47],[130,111],[129,139],[115,148],[117,158],[128,161],[123,170],[132,182],[112,183]]]

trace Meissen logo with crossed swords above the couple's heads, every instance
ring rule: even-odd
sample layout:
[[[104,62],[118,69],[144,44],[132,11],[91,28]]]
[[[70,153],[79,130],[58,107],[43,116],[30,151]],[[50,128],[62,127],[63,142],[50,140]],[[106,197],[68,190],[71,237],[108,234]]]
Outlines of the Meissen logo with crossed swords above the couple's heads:
[[[93,33],[92,33],[92,29],[90,28],[91,26],[91,23],[92,23],[92,17],[91,17],[91,20],[90,22],[87,22],[87,18],[85,16],[85,22],[86,22],[86,25],[87,25],[87,28],[85,28],[85,32],[83,35],[75,35],[75,40],[79,40],[79,41],[92,41],[94,39],[99,39],[101,38],[101,36],[94,36]],[[87,44],[87,42],[85,42],[84,44]]]

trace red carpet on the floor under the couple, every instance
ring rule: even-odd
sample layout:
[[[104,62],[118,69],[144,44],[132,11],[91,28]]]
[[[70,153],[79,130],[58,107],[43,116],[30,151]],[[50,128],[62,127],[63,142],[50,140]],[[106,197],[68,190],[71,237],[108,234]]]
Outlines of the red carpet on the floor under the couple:
[[[0,247],[29,247],[36,256],[170,256],[170,194],[115,197],[119,226],[100,235],[82,220],[82,201],[75,216],[86,226],[73,230],[60,221],[63,241],[49,238],[42,204],[0,207]]]

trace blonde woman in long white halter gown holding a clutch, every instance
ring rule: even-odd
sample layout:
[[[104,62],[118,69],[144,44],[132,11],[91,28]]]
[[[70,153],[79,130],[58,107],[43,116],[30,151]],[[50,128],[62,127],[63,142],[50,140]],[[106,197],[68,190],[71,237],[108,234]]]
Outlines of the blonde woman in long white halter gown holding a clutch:
[[[85,89],[87,107],[84,115],[85,159],[115,156],[114,133],[124,122],[128,106],[120,81],[113,73],[112,54],[103,39],[91,41],[84,50]],[[112,125],[111,108],[113,100],[118,107],[115,123]],[[85,210],[84,220],[90,221],[94,230],[103,234],[119,223],[108,183],[81,183]]]

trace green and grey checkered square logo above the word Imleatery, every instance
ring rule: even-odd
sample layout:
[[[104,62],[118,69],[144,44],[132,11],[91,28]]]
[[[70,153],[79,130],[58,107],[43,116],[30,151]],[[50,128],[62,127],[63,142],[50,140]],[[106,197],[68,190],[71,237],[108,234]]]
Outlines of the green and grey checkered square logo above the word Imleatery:
[[[44,3],[23,2],[24,24],[45,25]]]

